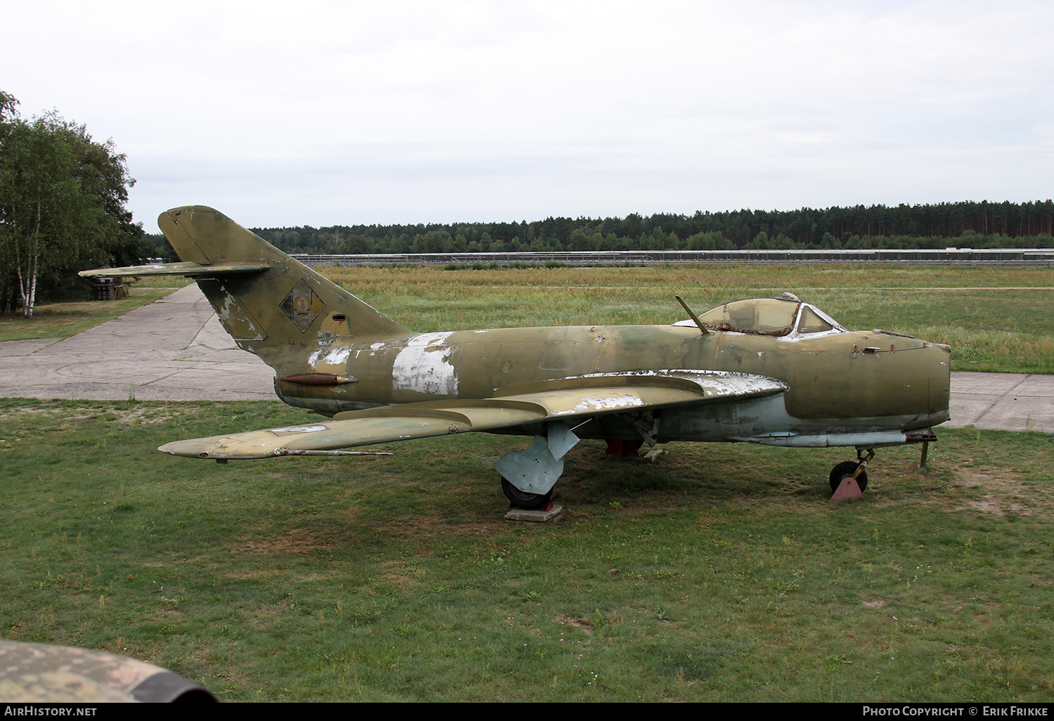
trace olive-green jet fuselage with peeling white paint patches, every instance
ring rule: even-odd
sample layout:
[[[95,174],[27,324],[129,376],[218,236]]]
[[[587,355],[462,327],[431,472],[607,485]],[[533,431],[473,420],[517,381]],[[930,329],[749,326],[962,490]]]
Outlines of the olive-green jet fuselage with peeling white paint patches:
[[[711,370],[776,378],[788,390],[769,398],[666,409],[660,442],[744,440],[781,431],[911,431],[948,420],[946,347],[887,333],[777,337],[702,335],[694,326],[569,326],[352,339],[341,337],[339,324],[331,319],[323,328],[317,347],[286,355],[301,362],[280,368],[278,377],[332,374],[348,382],[276,381],[275,386],[285,402],[326,415],[378,405],[486,398],[505,386],[598,373]],[[617,417],[598,418],[575,432],[640,437]]]

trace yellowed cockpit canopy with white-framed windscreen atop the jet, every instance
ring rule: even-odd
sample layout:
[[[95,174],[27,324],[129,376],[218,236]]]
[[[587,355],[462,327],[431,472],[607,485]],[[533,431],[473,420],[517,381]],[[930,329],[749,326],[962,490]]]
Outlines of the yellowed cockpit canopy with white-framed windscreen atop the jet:
[[[714,330],[782,336],[797,332],[800,335],[844,332],[836,320],[815,306],[801,303],[789,293],[780,298],[750,298],[734,300],[711,308],[699,316],[700,323]],[[694,326],[691,320],[681,320],[677,326]]]

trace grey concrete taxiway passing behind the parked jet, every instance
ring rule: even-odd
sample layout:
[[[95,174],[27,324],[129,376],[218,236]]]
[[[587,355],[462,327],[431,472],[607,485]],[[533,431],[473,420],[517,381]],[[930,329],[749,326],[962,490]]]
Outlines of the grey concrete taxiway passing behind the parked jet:
[[[194,285],[64,340],[0,343],[5,397],[277,402],[273,378]],[[1054,433],[1054,375],[953,372],[944,425]]]

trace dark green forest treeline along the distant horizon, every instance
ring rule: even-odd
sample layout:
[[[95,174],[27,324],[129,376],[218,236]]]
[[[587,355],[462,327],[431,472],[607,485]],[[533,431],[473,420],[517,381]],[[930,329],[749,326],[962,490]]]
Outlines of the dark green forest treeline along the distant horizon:
[[[528,222],[254,228],[289,253],[1051,248],[1054,201],[739,210]],[[163,245],[157,236],[158,245]]]

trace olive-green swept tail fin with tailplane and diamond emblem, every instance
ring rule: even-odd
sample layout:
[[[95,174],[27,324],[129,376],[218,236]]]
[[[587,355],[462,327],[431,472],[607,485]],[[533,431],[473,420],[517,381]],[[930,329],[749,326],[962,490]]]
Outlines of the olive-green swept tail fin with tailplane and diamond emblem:
[[[277,368],[273,357],[319,336],[409,335],[388,316],[222,213],[186,206],[157,219],[182,262],[82,271],[85,276],[186,275],[198,286],[240,348]]]

